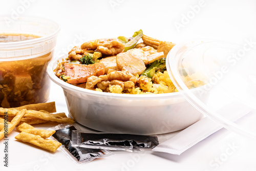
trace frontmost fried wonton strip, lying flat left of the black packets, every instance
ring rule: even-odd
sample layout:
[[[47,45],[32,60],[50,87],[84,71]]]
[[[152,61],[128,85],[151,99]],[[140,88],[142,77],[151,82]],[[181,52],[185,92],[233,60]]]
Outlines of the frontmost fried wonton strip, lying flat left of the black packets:
[[[34,144],[41,148],[48,149],[51,152],[55,152],[58,149],[58,147],[61,145],[61,143],[57,141],[44,139],[39,135],[33,135],[25,132],[19,133],[15,138],[23,142]]]

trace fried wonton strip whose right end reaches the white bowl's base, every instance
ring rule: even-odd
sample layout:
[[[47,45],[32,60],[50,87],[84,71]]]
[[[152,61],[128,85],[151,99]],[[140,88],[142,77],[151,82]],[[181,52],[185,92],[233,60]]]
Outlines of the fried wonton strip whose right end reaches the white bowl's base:
[[[34,117],[49,121],[61,122],[61,123],[74,123],[74,120],[71,118],[63,118],[58,115],[53,115],[49,113],[39,112],[39,111],[32,111],[28,110],[24,117]]]

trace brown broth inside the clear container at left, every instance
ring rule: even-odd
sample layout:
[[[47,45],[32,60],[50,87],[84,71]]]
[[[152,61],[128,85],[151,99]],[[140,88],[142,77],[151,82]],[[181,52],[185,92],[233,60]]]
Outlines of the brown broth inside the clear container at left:
[[[38,36],[0,34],[0,42],[33,38]],[[50,80],[46,69],[52,53],[16,61],[1,61],[0,58],[0,107],[11,108],[48,100]]]

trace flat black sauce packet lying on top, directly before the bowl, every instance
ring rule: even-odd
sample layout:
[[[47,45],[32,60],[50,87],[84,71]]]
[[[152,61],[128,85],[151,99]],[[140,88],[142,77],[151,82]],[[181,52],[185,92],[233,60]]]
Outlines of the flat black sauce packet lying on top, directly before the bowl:
[[[158,144],[156,136],[72,132],[72,145],[79,147],[132,152],[153,149]]]

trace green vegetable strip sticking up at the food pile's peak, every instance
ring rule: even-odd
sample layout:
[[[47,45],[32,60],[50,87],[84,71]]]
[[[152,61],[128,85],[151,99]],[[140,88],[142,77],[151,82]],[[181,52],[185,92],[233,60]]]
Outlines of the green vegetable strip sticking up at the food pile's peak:
[[[142,35],[143,35],[143,32],[140,29],[134,32],[133,38],[130,41],[129,41],[129,38],[127,37],[119,36],[118,39],[124,44],[124,52],[130,49],[133,49],[133,47],[135,47],[135,45],[137,44],[139,39],[142,37]]]

